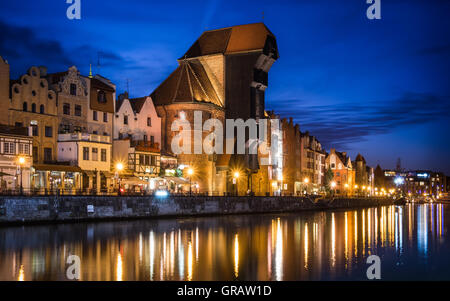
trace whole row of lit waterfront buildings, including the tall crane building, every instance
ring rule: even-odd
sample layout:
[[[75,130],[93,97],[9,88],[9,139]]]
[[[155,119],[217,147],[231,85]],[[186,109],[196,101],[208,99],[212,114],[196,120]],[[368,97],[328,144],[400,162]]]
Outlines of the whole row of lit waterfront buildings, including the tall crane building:
[[[268,72],[278,58],[276,38],[262,23],[205,31],[150,95],[131,99],[116,96],[107,78],[74,66],[58,73],[31,67],[13,80],[0,57],[0,190],[375,195],[387,189],[363,156],[327,153],[292,118],[265,109]],[[273,141],[269,135],[268,147],[278,147],[251,154],[246,143],[245,154],[175,155],[172,124],[185,120],[194,129],[195,112],[224,124],[276,121],[281,134]],[[239,141],[233,143],[236,150]]]

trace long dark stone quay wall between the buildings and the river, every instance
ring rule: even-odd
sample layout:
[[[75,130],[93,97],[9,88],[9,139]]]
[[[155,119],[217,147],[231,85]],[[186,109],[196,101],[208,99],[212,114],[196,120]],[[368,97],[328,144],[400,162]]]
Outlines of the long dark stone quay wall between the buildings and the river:
[[[392,205],[388,198],[2,196],[0,224],[214,216]]]

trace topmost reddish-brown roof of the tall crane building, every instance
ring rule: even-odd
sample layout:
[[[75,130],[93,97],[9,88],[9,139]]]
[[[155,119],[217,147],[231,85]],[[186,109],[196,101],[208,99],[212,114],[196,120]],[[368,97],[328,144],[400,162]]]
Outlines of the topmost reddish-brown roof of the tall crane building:
[[[275,36],[264,23],[205,31],[180,59],[219,53],[231,54],[262,50],[266,46],[267,36],[275,39]],[[276,55],[278,56],[278,54]]]

